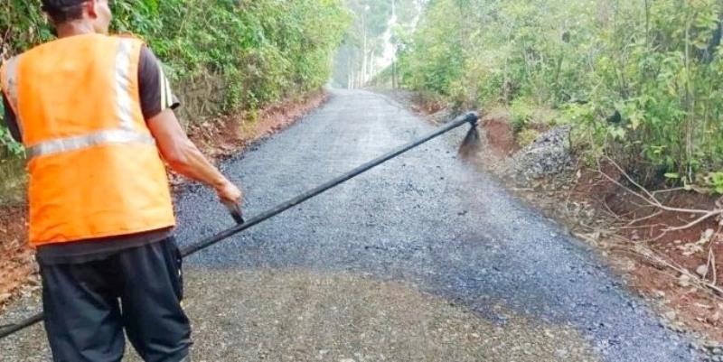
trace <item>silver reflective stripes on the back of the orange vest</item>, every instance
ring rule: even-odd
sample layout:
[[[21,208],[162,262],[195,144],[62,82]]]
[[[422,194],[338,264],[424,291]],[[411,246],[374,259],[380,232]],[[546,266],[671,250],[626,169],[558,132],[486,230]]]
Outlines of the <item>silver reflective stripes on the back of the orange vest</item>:
[[[130,94],[131,79],[130,74],[128,74],[132,49],[133,41],[131,39],[121,39],[120,42],[118,42],[116,52],[116,70],[114,74],[114,79],[116,81],[115,91],[117,93],[118,128],[108,129],[89,135],[77,135],[46,141],[40,144],[33,144],[32,146],[25,148],[28,161],[32,160],[34,157],[77,151],[101,144],[155,145],[155,139],[152,136],[137,132],[133,125],[133,98]],[[16,69],[17,67],[14,68]],[[15,83],[15,88],[16,85],[17,83]]]

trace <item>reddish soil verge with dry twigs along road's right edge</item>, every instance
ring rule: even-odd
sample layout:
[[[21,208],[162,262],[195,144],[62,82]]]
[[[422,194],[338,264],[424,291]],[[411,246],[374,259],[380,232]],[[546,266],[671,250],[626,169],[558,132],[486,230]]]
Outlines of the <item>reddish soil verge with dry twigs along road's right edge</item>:
[[[438,123],[444,113],[435,100],[406,91],[380,92],[430,122]],[[650,302],[662,325],[700,341],[700,349],[721,351],[723,265],[718,260],[723,260],[723,221],[709,218],[685,227],[700,214],[653,207],[637,196],[644,191],[613,164],[598,169],[578,162],[572,170],[531,181],[511,177],[502,169],[521,146],[509,115],[493,109],[483,117],[484,150],[471,162],[571,236],[595,246],[623,283]],[[546,131],[539,125],[535,130]],[[672,209],[717,209],[716,197],[697,192],[662,190],[655,197]],[[684,228],[667,231],[675,227]]]

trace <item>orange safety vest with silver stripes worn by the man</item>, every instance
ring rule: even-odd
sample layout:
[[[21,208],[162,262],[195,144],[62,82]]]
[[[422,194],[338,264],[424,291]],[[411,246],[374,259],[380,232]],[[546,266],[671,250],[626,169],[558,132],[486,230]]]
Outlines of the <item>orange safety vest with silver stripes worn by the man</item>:
[[[140,107],[143,42],[47,42],[0,68],[23,135],[33,246],[175,225],[164,163]]]

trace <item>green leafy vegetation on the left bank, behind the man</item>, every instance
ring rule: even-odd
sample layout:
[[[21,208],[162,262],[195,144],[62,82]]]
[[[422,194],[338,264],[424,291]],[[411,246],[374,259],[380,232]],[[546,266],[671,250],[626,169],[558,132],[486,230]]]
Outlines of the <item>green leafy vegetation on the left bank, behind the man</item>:
[[[221,79],[222,111],[304,97],[331,78],[333,56],[352,22],[341,0],[127,0],[111,2],[112,32],[146,39],[178,91]],[[0,2],[0,60],[53,39],[40,1]],[[0,106],[0,111],[2,111]],[[211,116],[211,115],[206,115]],[[190,120],[199,121],[199,120]],[[3,147],[4,146],[4,147]],[[23,150],[0,126],[0,160]],[[0,168],[16,165],[12,160]],[[0,181],[12,181],[0,173]]]

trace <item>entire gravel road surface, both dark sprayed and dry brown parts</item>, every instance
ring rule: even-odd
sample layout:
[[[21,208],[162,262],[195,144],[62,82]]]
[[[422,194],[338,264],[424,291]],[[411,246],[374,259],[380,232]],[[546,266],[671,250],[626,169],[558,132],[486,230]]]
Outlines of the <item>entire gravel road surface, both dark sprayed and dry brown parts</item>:
[[[253,216],[433,130],[390,98],[333,90],[223,170]],[[702,360],[593,250],[459,160],[464,132],[186,259],[193,360]],[[202,188],[177,212],[183,244],[232,223]],[[41,326],[0,341],[0,361],[47,353]]]

